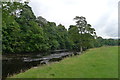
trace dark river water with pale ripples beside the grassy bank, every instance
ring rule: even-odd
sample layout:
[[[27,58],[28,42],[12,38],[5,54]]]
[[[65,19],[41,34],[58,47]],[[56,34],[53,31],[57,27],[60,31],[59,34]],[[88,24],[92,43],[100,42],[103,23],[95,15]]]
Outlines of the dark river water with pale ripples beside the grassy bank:
[[[65,57],[77,55],[77,52],[60,52],[49,55],[41,54],[13,54],[3,55],[2,77],[6,78],[20,72],[24,72],[31,67],[60,61]]]

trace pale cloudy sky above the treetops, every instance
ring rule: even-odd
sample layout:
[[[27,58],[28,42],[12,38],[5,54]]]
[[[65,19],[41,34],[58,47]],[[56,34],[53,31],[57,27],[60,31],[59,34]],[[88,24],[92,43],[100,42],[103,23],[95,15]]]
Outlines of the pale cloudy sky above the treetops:
[[[30,0],[36,16],[63,24],[67,29],[75,25],[75,16],[86,17],[87,23],[103,38],[118,37],[119,0]],[[119,36],[120,37],[120,36]]]

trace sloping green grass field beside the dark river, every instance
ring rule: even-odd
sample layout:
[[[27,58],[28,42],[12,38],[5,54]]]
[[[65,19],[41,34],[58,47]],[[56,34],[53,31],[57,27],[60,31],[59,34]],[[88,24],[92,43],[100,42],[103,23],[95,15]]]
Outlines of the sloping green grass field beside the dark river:
[[[31,68],[12,78],[118,78],[118,47],[89,49],[82,55]]]

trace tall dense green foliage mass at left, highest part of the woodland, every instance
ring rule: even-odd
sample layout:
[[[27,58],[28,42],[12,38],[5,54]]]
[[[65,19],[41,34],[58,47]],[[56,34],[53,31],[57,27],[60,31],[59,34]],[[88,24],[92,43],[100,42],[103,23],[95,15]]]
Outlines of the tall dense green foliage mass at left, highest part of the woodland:
[[[21,7],[17,7],[14,5]],[[6,6],[5,6],[6,5]],[[12,6],[11,6],[12,5]],[[3,53],[46,51],[49,49],[43,29],[25,3],[3,3]],[[6,9],[9,6],[9,9]],[[19,10],[19,16],[13,11]]]

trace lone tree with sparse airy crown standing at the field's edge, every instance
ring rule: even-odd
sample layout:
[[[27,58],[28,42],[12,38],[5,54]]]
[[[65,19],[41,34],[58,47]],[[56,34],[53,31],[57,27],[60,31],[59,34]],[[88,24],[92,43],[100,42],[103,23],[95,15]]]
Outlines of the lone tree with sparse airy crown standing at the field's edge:
[[[80,33],[80,51],[82,52],[83,48],[87,47],[87,45],[89,44],[87,39],[91,39],[92,41],[94,39],[92,38],[92,36],[96,33],[95,29],[91,28],[90,24],[87,24],[85,17],[76,16],[74,20],[76,20],[76,26],[78,27]],[[87,45],[85,46],[85,44]]]

